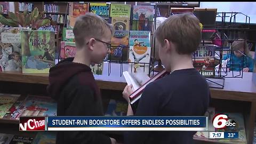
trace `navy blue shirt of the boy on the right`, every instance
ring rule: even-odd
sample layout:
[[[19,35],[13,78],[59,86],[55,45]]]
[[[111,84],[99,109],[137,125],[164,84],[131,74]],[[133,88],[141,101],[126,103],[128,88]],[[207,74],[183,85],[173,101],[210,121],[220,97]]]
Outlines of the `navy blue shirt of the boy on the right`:
[[[209,107],[210,90],[195,68],[173,71],[146,86],[136,116],[203,116]],[[125,143],[193,143],[196,132],[130,131]]]

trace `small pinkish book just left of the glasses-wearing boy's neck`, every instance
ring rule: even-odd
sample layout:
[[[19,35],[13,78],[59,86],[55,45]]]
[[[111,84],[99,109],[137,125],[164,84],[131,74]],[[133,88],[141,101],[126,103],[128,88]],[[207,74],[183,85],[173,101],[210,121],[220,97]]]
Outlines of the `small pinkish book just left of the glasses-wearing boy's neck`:
[[[60,43],[60,58],[73,58],[76,55],[76,43],[75,42],[61,42]]]

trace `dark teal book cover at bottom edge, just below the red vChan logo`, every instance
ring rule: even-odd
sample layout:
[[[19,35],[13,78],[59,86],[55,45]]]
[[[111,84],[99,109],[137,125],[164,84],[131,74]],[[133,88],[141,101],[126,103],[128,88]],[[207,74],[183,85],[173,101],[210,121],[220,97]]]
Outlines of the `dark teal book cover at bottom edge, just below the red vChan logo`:
[[[56,132],[38,132],[36,138],[33,140],[33,144],[55,144]]]

